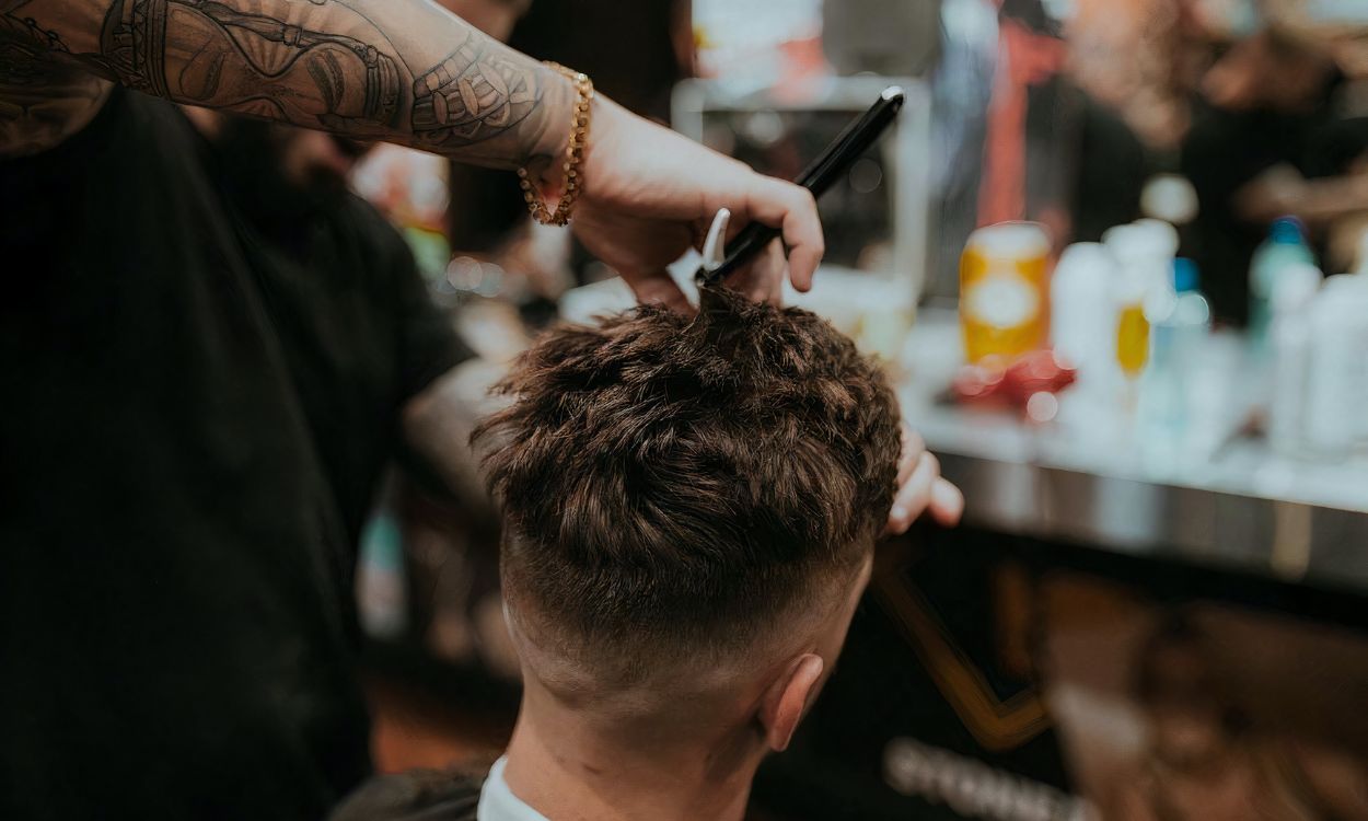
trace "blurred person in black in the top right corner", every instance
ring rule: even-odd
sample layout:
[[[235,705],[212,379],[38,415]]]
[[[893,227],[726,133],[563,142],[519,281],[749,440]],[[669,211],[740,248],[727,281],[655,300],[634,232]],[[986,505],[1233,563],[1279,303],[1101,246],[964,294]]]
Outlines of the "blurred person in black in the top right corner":
[[[1181,68],[1174,92],[1187,105],[1178,170],[1200,203],[1183,253],[1202,270],[1216,316],[1235,323],[1246,320],[1250,260],[1274,219],[1301,218],[1337,272],[1354,263],[1346,246],[1357,229],[1327,256],[1334,223],[1368,209],[1368,109],[1327,44],[1279,22],[1272,5],[1179,0],[1167,38]]]

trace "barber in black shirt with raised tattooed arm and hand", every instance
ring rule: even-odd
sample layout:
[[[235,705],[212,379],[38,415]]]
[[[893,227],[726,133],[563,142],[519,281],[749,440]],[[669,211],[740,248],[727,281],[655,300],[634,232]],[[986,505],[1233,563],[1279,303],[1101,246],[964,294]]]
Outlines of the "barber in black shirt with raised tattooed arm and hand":
[[[353,311],[379,287],[369,276],[401,271],[402,253],[379,229],[339,235],[347,223],[317,211],[298,237],[237,224],[222,172],[166,99],[343,137],[298,164],[290,140],[269,149],[313,182],[347,164],[349,141],[389,140],[531,167],[554,200],[576,90],[431,3],[361,11],[0,0],[5,818],[312,820],[369,769],[357,519],[342,510],[363,482],[328,473],[364,475],[379,439],[353,443],[356,419],[330,415],[384,426],[421,387],[404,368],[425,357],[395,352],[423,328],[352,324],[367,322]],[[605,96],[591,120],[575,230],[639,297],[687,309],[663,265],[724,205],[781,227],[807,286],[822,239],[806,192]],[[319,192],[285,196],[300,193]],[[342,255],[376,255],[332,297],[346,317],[298,313],[317,283],[294,276],[315,252],[311,264],[338,261],[338,282],[360,274]],[[781,275],[737,285],[769,298]],[[312,348],[349,334],[327,356]],[[371,334],[389,353],[357,350]],[[338,385],[358,394],[339,400]]]

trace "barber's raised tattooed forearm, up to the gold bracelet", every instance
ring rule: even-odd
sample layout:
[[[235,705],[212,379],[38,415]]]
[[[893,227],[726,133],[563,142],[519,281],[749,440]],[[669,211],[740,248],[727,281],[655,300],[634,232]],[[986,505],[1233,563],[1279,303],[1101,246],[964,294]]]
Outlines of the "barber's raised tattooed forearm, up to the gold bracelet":
[[[104,81],[503,168],[550,166],[573,103],[430,0],[0,0],[0,153],[83,126]]]

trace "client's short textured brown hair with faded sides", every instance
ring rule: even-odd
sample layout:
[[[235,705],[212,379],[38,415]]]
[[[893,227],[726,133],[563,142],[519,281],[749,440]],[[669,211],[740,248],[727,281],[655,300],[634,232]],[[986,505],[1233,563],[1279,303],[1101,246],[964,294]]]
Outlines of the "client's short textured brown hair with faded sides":
[[[867,556],[899,413],[818,316],[709,289],[547,333],[476,439],[502,501],[505,595],[587,653],[740,647]]]

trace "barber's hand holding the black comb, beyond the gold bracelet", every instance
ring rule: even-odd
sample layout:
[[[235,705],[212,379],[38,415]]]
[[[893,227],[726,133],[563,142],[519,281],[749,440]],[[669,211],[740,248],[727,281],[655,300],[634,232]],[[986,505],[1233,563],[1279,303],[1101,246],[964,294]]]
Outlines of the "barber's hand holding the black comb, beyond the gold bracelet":
[[[581,179],[575,233],[643,302],[688,309],[665,267],[702,241],[722,207],[732,211],[733,234],[751,220],[781,229],[793,287],[811,287],[824,239],[817,204],[803,187],[757,174],[603,97],[594,104]],[[777,300],[784,268],[773,252],[761,255],[728,285]]]

